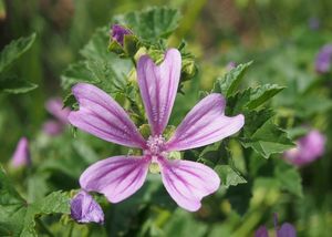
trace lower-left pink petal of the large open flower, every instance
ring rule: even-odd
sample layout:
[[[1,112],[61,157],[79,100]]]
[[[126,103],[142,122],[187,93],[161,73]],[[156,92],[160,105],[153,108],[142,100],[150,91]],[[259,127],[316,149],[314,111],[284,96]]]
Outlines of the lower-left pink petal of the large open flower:
[[[118,203],[142,187],[149,162],[149,157],[142,156],[115,156],[96,162],[81,175],[81,187]]]

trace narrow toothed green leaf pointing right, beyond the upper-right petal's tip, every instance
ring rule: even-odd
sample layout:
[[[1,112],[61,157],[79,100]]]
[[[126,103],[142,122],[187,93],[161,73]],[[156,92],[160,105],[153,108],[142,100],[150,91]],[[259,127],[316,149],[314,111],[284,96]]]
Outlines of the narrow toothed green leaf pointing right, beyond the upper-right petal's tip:
[[[256,89],[251,89],[250,91],[250,101],[246,105],[249,110],[253,110],[259,105],[266,103],[268,100],[273,97],[276,94],[281,92],[284,86],[280,86],[277,84],[264,84],[262,86],[258,86]]]

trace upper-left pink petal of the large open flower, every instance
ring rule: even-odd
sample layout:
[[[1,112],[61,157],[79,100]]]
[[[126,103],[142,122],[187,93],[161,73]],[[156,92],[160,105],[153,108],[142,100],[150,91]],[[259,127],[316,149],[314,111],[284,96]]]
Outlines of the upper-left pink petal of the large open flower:
[[[145,141],[126,112],[104,91],[79,83],[72,89],[80,110],[69,115],[74,126],[105,141],[129,147],[145,147]]]

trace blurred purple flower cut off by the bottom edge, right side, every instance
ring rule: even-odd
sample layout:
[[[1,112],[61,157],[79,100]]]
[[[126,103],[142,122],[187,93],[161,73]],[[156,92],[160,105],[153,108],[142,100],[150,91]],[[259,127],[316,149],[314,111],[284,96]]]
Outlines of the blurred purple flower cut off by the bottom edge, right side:
[[[297,237],[295,228],[289,224],[283,223],[281,227],[278,227],[278,217],[274,214],[274,229],[276,229],[276,237]],[[255,237],[269,237],[269,231],[266,226],[260,226],[256,233]]]

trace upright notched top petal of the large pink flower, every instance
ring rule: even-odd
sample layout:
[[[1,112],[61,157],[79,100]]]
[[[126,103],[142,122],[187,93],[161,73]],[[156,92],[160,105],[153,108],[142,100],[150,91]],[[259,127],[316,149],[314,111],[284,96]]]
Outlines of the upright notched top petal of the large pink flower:
[[[168,123],[180,70],[181,55],[176,49],[166,52],[160,65],[156,65],[148,55],[141,56],[138,61],[138,85],[153,135],[162,135]]]

